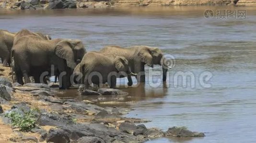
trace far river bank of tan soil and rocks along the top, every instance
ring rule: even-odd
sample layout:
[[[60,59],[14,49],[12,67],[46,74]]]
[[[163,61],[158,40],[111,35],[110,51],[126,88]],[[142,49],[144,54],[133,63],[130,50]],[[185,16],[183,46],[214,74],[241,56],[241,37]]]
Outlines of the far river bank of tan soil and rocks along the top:
[[[184,5],[256,6],[256,0],[0,0],[0,8],[21,10]]]

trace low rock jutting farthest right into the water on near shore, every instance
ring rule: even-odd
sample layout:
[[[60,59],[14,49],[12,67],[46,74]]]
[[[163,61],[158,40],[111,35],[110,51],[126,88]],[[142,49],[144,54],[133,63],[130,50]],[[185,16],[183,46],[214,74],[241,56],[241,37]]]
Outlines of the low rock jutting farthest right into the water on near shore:
[[[183,127],[169,128],[166,133],[167,133],[166,136],[175,136],[175,137],[202,137],[202,136],[205,136],[204,133],[191,132]]]

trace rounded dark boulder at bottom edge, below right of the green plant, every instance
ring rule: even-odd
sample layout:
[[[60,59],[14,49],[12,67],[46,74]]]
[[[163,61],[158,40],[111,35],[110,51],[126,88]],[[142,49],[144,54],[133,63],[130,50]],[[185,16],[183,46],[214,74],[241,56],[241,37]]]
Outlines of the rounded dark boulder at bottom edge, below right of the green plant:
[[[46,142],[53,143],[70,143],[70,138],[64,130],[61,129],[50,129],[46,138]]]

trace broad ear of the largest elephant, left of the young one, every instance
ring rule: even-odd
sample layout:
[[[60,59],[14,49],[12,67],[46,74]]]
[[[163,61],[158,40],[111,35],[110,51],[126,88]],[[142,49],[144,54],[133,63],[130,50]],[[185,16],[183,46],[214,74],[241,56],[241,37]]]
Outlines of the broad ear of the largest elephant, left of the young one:
[[[74,52],[73,48],[75,46],[75,43],[72,41],[63,40],[58,42],[58,44],[55,46],[55,54],[66,60],[68,67],[75,69],[76,62],[74,60]]]

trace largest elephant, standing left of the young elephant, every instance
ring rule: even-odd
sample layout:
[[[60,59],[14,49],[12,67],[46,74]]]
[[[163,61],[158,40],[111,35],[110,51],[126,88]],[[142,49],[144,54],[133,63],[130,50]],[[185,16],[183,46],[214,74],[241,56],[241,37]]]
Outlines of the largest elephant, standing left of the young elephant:
[[[53,74],[59,75],[59,88],[67,89],[70,87],[70,75],[85,53],[81,40],[44,40],[34,35],[23,36],[12,48],[17,82],[28,83],[29,76],[34,76],[35,82],[39,83],[42,75],[49,76],[53,65]]]

